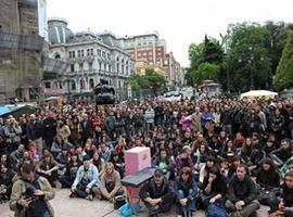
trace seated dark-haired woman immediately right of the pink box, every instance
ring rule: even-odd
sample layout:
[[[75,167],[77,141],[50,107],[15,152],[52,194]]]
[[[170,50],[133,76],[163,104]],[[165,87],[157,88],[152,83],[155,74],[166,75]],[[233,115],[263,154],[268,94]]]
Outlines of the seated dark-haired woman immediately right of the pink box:
[[[155,159],[153,161],[153,166],[161,168],[164,171],[165,177],[167,178],[167,180],[169,180],[169,178],[173,178],[174,180],[174,163],[173,161],[169,158],[169,156],[167,155],[167,150],[162,148],[160,150],[160,154],[157,157],[155,157]]]

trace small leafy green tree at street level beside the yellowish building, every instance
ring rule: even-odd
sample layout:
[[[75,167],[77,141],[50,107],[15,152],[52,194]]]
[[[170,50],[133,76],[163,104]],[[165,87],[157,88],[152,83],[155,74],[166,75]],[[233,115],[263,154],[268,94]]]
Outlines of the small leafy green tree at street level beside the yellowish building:
[[[166,78],[156,73],[153,68],[146,68],[144,75],[132,75],[128,84],[133,90],[151,89],[154,92],[165,91],[167,89]]]

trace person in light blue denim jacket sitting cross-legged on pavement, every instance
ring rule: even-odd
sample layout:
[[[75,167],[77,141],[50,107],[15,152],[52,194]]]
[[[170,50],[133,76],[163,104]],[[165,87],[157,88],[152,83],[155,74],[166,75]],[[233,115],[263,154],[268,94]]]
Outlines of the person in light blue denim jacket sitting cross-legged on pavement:
[[[81,197],[92,201],[93,194],[99,194],[100,175],[98,168],[91,164],[88,155],[82,158],[84,165],[77,170],[76,178],[72,186],[71,197]]]

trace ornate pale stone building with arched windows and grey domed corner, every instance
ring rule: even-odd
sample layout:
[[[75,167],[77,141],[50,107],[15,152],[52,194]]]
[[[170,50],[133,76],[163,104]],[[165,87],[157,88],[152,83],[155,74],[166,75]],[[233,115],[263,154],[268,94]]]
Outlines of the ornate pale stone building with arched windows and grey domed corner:
[[[49,56],[66,62],[67,69],[58,79],[44,81],[46,93],[90,92],[101,78],[117,90],[126,89],[133,60],[113,34],[74,34],[64,18],[50,18],[48,26]]]

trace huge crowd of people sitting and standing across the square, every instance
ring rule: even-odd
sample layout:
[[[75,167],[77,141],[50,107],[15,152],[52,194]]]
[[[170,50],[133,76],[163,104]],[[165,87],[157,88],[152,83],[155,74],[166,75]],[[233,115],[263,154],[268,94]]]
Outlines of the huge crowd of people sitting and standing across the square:
[[[53,216],[52,187],[112,202],[125,194],[124,152],[149,146],[156,169],[139,196],[150,216],[176,205],[184,217],[249,217],[265,204],[290,217],[292,140],[290,99],[42,105],[0,118],[0,200],[20,217]]]

